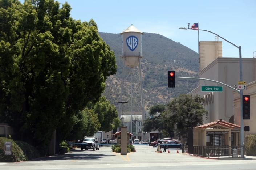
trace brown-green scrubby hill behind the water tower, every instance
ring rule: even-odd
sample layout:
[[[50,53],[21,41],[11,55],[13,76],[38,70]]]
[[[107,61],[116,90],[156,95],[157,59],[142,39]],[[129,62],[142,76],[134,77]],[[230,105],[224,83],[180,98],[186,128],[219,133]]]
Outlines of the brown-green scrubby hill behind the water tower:
[[[117,74],[106,81],[105,95],[117,105],[122,80],[123,63],[120,58],[122,38],[120,34],[99,33],[115,52]],[[145,109],[159,103],[166,103],[171,97],[188,93],[198,86],[195,80],[176,79],[176,87],[167,87],[167,71],[175,70],[176,76],[195,77],[198,74],[198,53],[172,41],[163,35],[144,33],[142,35],[142,75]]]

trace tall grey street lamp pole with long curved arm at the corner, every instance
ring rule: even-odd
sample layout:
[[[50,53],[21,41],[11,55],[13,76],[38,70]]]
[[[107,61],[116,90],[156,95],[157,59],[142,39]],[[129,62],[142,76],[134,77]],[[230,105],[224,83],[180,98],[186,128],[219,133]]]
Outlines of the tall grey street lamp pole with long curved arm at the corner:
[[[224,39],[225,41],[227,41],[228,43],[232,44],[233,46],[235,46],[236,48],[239,49],[239,67],[240,67],[240,81],[243,81],[243,70],[242,70],[242,49],[241,46],[236,46],[235,44],[233,44],[232,42],[226,40],[225,38],[219,36],[218,34],[215,34],[211,31],[208,30],[201,30],[201,29],[191,29],[191,28],[185,28],[185,27],[181,27],[179,29],[183,29],[183,30],[196,30],[196,31],[207,31],[209,33],[212,33],[214,35],[217,35],[218,37]],[[243,120],[243,90],[240,90],[240,117],[241,117],[241,128],[240,128],[240,134],[241,134],[241,157],[244,157],[244,120]]]

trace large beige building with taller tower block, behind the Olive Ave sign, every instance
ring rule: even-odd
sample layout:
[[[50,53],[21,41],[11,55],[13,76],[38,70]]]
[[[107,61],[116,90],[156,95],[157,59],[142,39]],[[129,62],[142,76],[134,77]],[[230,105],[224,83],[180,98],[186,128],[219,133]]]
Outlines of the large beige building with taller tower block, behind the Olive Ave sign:
[[[232,87],[237,86],[237,81],[240,79],[239,58],[223,58],[221,41],[200,41],[199,50],[200,78],[220,81]],[[238,54],[239,50],[237,49]],[[255,81],[256,58],[242,58],[242,63],[243,80],[248,83]],[[202,92],[201,86],[205,85],[218,86],[215,82],[201,80],[199,86],[188,93],[204,97],[204,107],[208,110],[208,118],[205,118],[203,123],[214,122],[218,119],[233,123],[234,90],[220,84],[219,86],[223,86],[223,92]],[[244,93],[247,93],[246,90]],[[240,125],[237,122],[235,124]]]

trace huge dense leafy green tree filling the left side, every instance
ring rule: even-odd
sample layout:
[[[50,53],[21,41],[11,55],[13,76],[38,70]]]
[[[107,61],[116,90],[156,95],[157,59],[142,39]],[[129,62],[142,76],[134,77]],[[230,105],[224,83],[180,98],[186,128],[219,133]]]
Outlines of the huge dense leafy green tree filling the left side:
[[[70,10],[54,0],[0,0],[0,122],[40,148],[53,129],[72,129],[117,68],[95,22]]]

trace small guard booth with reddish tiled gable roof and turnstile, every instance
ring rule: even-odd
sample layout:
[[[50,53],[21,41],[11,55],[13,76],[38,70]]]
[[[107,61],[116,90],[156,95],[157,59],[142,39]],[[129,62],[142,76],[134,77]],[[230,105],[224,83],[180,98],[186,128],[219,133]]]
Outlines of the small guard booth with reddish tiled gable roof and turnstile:
[[[240,126],[222,119],[215,120],[194,127],[193,138],[196,155],[231,156],[232,147],[240,146]]]

